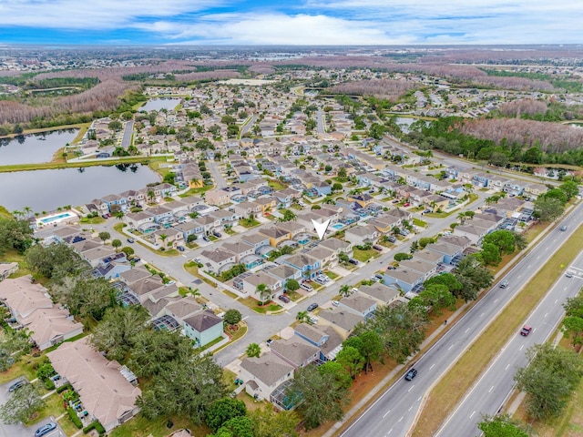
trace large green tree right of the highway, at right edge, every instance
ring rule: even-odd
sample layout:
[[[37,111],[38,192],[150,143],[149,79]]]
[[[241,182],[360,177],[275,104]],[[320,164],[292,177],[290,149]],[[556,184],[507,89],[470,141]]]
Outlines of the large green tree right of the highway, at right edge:
[[[527,350],[529,364],[517,370],[517,388],[527,392],[527,413],[534,420],[557,417],[567,406],[583,375],[574,351],[537,344]]]

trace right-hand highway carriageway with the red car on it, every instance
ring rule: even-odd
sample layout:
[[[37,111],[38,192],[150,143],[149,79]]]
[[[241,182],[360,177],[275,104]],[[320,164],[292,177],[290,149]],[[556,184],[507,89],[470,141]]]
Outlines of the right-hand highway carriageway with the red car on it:
[[[583,213],[568,220],[575,229],[583,221]],[[563,239],[558,230],[553,231],[554,238]],[[564,232],[561,232],[564,233]],[[575,297],[583,285],[583,251],[568,267],[575,275],[573,278],[561,276],[548,291],[547,296],[537,308],[528,315],[526,324],[533,328],[528,337],[517,332],[488,369],[482,374],[476,385],[472,387],[463,401],[448,417],[445,425],[435,435],[447,437],[451,435],[480,435],[476,424],[481,421],[482,414],[494,415],[506,403],[513,391],[514,375],[517,368],[527,365],[525,351],[534,344],[545,342],[563,319],[565,311],[563,303],[568,298]],[[567,269],[566,269],[567,270]]]

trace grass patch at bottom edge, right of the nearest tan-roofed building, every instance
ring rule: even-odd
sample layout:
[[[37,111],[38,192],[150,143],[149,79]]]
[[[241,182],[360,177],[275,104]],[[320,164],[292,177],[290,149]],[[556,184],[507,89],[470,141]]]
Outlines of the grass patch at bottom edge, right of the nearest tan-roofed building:
[[[169,423],[171,427],[168,427]],[[181,429],[188,429],[191,435],[208,435],[212,433],[210,429],[204,425],[197,426],[194,422],[189,421],[184,417],[159,417],[158,419],[149,420],[142,414],[134,417],[131,421],[119,425],[116,429],[108,432],[110,437],[143,437],[148,435],[151,437],[165,437],[172,432]]]

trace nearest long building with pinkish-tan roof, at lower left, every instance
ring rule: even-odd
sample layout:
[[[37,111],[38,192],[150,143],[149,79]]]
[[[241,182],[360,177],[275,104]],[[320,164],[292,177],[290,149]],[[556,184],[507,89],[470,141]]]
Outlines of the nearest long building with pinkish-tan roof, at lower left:
[[[108,361],[89,345],[87,337],[65,342],[46,356],[56,373],[77,391],[83,408],[106,432],[138,413],[136,401],[141,391],[124,376],[127,368],[118,361]]]

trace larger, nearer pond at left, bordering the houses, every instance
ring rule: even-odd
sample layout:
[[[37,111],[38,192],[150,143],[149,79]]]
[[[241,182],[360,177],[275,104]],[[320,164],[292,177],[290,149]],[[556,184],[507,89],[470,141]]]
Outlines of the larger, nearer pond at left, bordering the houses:
[[[107,194],[141,189],[159,180],[157,173],[139,164],[0,173],[0,205],[9,211],[25,207],[36,212],[52,211],[65,205],[77,207]]]

